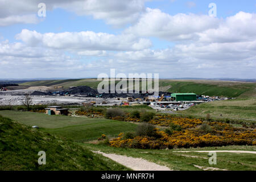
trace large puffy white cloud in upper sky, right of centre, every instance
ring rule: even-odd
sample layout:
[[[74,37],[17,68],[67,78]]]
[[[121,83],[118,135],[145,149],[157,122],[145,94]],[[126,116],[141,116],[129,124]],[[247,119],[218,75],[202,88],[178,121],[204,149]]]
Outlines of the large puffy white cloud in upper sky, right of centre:
[[[126,32],[138,36],[155,36],[161,39],[177,41],[197,39],[196,33],[218,27],[218,19],[208,15],[170,14],[159,9],[147,8],[146,13]]]

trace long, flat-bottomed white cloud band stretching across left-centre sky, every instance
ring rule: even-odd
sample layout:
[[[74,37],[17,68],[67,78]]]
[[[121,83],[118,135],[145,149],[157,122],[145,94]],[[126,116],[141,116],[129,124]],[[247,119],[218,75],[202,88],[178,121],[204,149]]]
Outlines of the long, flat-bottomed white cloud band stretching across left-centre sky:
[[[56,49],[122,51],[151,47],[150,40],[137,38],[132,34],[113,35],[92,31],[40,34],[23,29],[20,34],[16,35],[16,39],[22,40],[28,46],[42,45]]]

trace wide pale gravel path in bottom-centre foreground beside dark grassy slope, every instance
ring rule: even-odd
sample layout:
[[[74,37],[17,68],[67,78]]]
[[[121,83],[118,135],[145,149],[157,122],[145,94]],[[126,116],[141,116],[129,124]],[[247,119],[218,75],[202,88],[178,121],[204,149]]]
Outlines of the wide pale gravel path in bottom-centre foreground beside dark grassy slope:
[[[129,167],[134,171],[172,171],[170,168],[166,166],[160,166],[159,164],[155,164],[152,162],[148,162],[147,160],[141,158],[132,158],[127,157],[125,155],[117,155],[117,154],[106,154],[101,151],[93,151],[97,154],[102,154],[103,156],[114,160],[115,162],[122,164],[123,166]]]

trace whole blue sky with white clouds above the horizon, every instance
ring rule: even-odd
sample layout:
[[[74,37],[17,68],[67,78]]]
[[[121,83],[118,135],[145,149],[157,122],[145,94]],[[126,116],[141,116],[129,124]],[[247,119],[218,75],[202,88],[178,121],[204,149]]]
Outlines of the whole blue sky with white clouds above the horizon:
[[[256,78],[256,0],[0,0],[0,78],[110,69]]]

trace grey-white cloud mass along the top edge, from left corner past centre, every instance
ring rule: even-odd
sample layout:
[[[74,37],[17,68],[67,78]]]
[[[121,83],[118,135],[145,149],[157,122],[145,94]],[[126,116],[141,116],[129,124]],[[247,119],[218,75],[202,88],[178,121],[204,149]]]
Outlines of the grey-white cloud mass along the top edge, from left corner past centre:
[[[113,26],[134,23],[144,12],[147,0],[44,0],[47,11],[61,8],[78,15],[92,15],[95,19],[104,19]],[[36,16],[41,0],[0,0],[0,26],[14,23],[34,23],[24,20],[18,22],[23,15]],[[16,21],[13,20],[16,18]],[[3,25],[2,25],[3,24]]]

